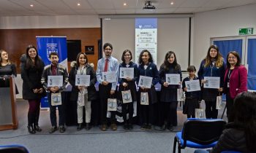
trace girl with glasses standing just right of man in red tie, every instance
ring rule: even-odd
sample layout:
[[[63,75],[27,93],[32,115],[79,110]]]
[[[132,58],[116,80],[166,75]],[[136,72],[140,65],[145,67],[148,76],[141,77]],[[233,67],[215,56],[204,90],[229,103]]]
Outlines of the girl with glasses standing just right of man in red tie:
[[[121,60],[123,61],[120,63],[119,68],[133,68],[133,76],[130,78],[128,76],[120,77],[118,79],[119,82],[119,97],[121,99],[122,103],[122,114],[124,119],[124,130],[131,130],[132,129],[132,116],[133,116],[133,102],[137,101],[136,98],[136,80],[138,78],[138,66],[136,63],[132,62],[132,52],[130,50],[124,50]],[[124,71],[119,70],[120,73],[123,73]],[[120,75],[121,76],[121,75]],[[122,96],[124,93],[122,91],[129,90],[131,94],[127,94],[127,97]],[[124,103],[123,98],[132,98],[132,101]],[[129,119],[127,120],[127,113],[129,113]]]

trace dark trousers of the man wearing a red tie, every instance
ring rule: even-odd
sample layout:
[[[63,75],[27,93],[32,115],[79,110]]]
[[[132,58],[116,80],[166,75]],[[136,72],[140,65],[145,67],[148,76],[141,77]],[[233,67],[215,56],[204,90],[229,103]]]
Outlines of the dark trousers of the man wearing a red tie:
[[[110,90],[111,90],[112,84],[108,85],[101,85],[99,84],[99,101],[101,104],[101,111],[100,111],[100,116],[101,116],[101,122],[102,125],[107,124],[107,111],[108,111],[108,98],[110,98]],[[111,95],[111,98],[114,98],[116,94]],[[110,111],[111,112],[111,117],[110,117],[110,122],[116,123],[116,111]]]

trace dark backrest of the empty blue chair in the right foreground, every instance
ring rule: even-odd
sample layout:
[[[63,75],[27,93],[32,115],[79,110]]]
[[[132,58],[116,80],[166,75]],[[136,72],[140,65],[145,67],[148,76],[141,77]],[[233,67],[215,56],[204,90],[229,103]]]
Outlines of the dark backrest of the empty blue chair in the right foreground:
[[[184,122],[182,138],[201,145],[212,144],[219,140],[227,124],[223,119],[189,119]]]

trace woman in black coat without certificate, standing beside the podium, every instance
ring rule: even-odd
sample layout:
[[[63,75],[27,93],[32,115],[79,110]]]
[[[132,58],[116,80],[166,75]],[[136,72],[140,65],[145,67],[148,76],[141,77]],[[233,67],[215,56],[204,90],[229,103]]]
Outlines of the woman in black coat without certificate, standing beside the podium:
[[[40,101],[45,96],[45,90],[43,90],[41,84],[41,76],[45,64],[39,58],[37,48],[33,45],[29,45],[26,48],[26,55],[21,56],[20,62],[21,78],[23,79],[22,95],[23,99],[29,101],[28,130],[29,133],[34,134],[36,130],[42,130],[38,126],[38,120]]]

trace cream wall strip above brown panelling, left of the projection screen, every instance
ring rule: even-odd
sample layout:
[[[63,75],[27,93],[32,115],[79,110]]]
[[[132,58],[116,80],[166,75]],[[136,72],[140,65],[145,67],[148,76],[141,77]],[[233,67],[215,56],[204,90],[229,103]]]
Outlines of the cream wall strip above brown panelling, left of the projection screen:
[[[98,15],[0,17],[0,29],[99,27]]]

